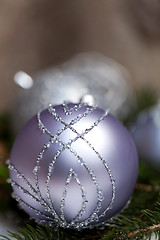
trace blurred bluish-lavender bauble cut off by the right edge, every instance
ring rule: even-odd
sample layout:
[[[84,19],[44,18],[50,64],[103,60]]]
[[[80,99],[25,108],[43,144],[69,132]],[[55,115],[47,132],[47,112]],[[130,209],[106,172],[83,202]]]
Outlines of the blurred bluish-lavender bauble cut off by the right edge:
[[[160,104],[143,111],[131,127],[142,160],[160,164]]]

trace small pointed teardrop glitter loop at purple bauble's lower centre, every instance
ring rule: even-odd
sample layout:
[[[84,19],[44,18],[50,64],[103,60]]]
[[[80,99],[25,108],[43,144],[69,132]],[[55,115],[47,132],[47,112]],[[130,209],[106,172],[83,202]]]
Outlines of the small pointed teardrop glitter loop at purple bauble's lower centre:
[[[67,195],[67,190],[69,188],[69,184],[70,184],[70,181],[72,180],[72,177],[74,177],[74,179],[76,180],[76,182],[78,183],[79,187],[80,187],[80,190],[82,192],[82,208],[81,210],[79,211],[79,213],[77,214],[77,216],[71,221],[70,224],[67,224],[66,220],[65,220],[65,217],[64,217],[64,206],[65,206],[65,199],[66,199],[66,195]],[[65,188],[64,188],[64,192],[63,192],[63,196],[62,196],[62,200],[61,200],[61,207],[60,207],[60,210],[61,210],[61,219],[65,221],[65,224],[66,226],[69,225],[69,226],[74,226],[76,224],[76,222],[82,217],[82,215],[85,213],[85,210],[86,210],[86,206],[87,206],[87,198],[86,198],[86,193],[84,192],[84,189],[83,189],[83,186],[81,185],[78,177],[77,177],[77,174],[74,172],[74,170],[71,168],[70,171],[69,171],[69,174],[68,174],[68,178],[66,180],[66,185],[65,185]]]

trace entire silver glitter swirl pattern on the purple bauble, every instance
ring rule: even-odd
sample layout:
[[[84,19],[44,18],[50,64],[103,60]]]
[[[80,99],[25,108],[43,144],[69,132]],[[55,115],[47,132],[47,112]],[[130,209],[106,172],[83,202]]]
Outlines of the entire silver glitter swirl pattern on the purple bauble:
[[[75,105],[73,108],[69,109],[68,105],[66,103],[64,103],[63,111],[64,111],[65,115],[72,115],[73,113],[75,113],[79,109],[83,108],[84,106],[85,106],[85,104],[82,103],[82,104]],[[19,202],[19,204],[22,207],[23,207],[23,205],[25,205],[28,208],[30,208],[31,210],[33,210],[37,215],[40,215],[44,218],[43,220],[35,219],[37,222],[45,223],[45,224],[47,223],[51,226],[58,225],[61,227],[66,227],[66,228],[76,228],[76,229],[86,228],[90,225],[90,223],[98,222],[99,219],[104,217],[106,212],[112,208],[112,205],[113,205],[113,202],[115,199],[115,181],[112,176],[111,170],[110,170],[109,166],[106,164],[106,161],[102,158],[100,153],[96,150],[96,148],[94,146],[92,146],[92,144],[85,138],[85,136],[90,131],[92,131],[92,129],[94,129],[96,126],[99,125],[99,123],[101,121],[103,121],[103,119],[107,116],[108,111],[106,111],[101,117],[99,117],[93,123],[93,125],[91,125],[89,128],[82,131],[82,133],[79,133],[73,127],[82,118],[87,117],[89,114],[92,114],[95,109],[96,109],[96,107],[87,107],[83,113],[77,114],[77,116],[75,118],[73,118],[69,123],[67,123],[62,119],[62,117],[60,117],[58,115],[55,108],[51,104],[49,104],[48,112],[54,117],[54,119],[56,121],[62,123],[62,125],[63,125],[63,127],[61,129],[59,129],[56,134],[51,133],[47,129],[47,127],[43,124],[43,122],[41,120],[41,112],[39,112],[37,114],[37,121],[38,121],[39,128],[41,129],[42,133],[46,133],[47,135],[49,135],[50,139],[47,143],[44,144],[41,152],[37,156],[36,165],[33,169],[33,173],[34,173],[34,177],[35,177],[35,188],[32,186],[32,184],[29,182],[29,180],[27,180],[24,177],[24,175],[22,173],[20,173],[12,164],[9,164],[9,169],[16,173],[17,177],[20,178],[28,186],[30,191],[26,190],[24,187],[20,186],[18,183],[16,183],[15,181],[10,179],[9,182],[11,183],[11,185],[19,188],[20,191],[22,191],[24,194],[26,194],[27,196],[32,198],[44,209],[44,212],[42,213],[41,211],[37,210],[36,208],[30,206],[27,202],[25,202],[23,199],[18,197],[16,194],[14,194],[14,198]],[[70,129],[73,133],[75,133],[76,137],[74,137],[73,139],[70,139],[68,142],[65,143],[60,139],[60,135],[67,129]],[[102,201],[104,200],[103,192],[100,189],[98,179],[97,179],[94,171],[92,170],[92,168],[90,166],[88,166],[88,164],[84,161],[84,159],[81,156],[79,156],[78,153],[72,148],[72,144],[74,142],[76,142],[78,139],[82,139],[89,146],[89,148],[97,155],[99,160],[103,163],[103,166],[105,167],[105,169],[109,175],[109,178],[110,178],[110,182],[112,185],[112,198],[110,200],[109,205],[106,207],[105,211],[103,211],[103,213],[101,213],[100,215],[98,215],[98,214],[99,214],[99,211],[101,210]],[[53,159],[48,167],[48,174],[47,174],[47,180],[46,180],[47,199],[44,199],[42,197],[41,191],[40,191],[38,173],[41,168],[40,165],[41,165],[41,160],[43,159],[44,153],[53,144],[57,144],[59,146],[59,148],[58,148],[57,153],[53,156]],[[62,195],[61,205],[60,205],[60,213],[61,213],[60,215],[58,215],[56,213],[56,211],[54,209],[54,204],[51,200],[50,181],[51,181],[51,176],[54,171],[54,165],[55,165],[55,162],[58,161],[58,158],[62,154],[62,152],[65,151],[66,149],[68,149],[70,151],[70,153],[73,154],[73,156],[80,163],[81,167],[84,167],[86,169],[87,173],[89,174],[89,176],[90,176],[91,180],[93,181],[95,188],[96,188],[97,205],[96,205],[94,211],[90,214],[90,216],[87,219],[85,219],[84,221],[80,221],[80,219],[82,218],[83,214],[86,212],[86,207],[88,204],[87,195],[85,193],[84,187],[80,183],[77,173],[72,168],[70,169],[70,171],[68,173],[68,177],[65,182],[64,192]],[[72,178],[74,178],[78,187],[80,188],[81,195],[82,195],[82,207],[81,207],[81,210],[78,212],[77,216],[74,219],[72,219],[71,222],[67,222],[65,219],[64,207],[65,207],[65,200],[66,200],[69,184],[70,184],[70,181]]]

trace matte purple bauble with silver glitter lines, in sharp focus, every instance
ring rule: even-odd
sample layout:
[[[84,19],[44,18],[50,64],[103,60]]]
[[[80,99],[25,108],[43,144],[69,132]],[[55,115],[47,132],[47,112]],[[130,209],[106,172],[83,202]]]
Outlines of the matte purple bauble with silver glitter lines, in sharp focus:
[[[122,124],[85,104],[49,105],[15,140],[14,196],[39,223],[87,228],[110,220],[133,192],[138,160]]]

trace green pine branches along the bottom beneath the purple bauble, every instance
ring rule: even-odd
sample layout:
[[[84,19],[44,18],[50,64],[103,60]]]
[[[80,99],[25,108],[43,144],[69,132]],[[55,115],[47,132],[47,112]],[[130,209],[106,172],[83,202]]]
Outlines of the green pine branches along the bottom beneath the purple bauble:
[[[20,229],[19,234],[9,232],[9,236],[1,236],[0,240],[119,240],[119,239],[144,239],[151,237],[152,233],[160,236],[160,203],[154,210],[142,210],[141,218],[127,218],[120,215],[114,218],[110,226],[104,230],[85,230],[76,232],[59,229],[55,231],[48,226],[38,226],[36,229],[28,225],[26,229]]]

